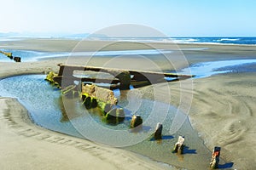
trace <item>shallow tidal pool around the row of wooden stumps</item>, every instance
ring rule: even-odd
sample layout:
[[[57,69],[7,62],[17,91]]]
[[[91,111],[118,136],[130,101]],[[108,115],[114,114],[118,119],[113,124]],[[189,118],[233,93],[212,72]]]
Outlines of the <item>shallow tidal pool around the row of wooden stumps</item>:
[[[172,105],[141,99],[139,107],[131,109],[131,111],[143,116],[143,128],[131,131],[129,128],[131,112],[126,111],[128,117],[125,122],[117,126],[108,125],[102,121],[99,111],[86,111],[79,99],[61,99],[61,91],[45,82],[44,77],[44,75],[26,75],[5,78],[0,81],[0,95],[19,99],[20,103],[29,111],[32,121],[50,130],[90,139],[101,144],[126,145],[125,149],[127,150],[178,167],[198,169],[207,167],[211,152],[198,138],[188,121],[177,133],[169,133],[173,116],[177,112]],[[126,100],[124,99],[125,95],[127,98],[127,94],[119,93],[119,99],[122,98],[119,106],[131,108],[128,101],[130,95],[128,94]],[[155,120],[164,124],[163,139],[160,142],[154,141],[150,135],[154,132],[156,122],[148,118],[152,116],[148,113],[154,112],[153,117],[161,116],[165,109],[167,109],[167,116],[159,117],[163,121]],[[187,153],[183,157],[172,154],[172,147],[177,142],[179,134],[185,136],[186,144],[189,147],[186,148],[185,152]]]

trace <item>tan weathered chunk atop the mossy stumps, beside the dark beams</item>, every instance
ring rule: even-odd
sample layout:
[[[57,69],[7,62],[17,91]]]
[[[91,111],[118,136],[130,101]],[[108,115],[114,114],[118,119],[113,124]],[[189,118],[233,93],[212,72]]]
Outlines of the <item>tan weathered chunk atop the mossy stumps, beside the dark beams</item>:
[[[82,94],[89,94],[96,99],[100,99],[105,103],[117,105],[118,99],[114,97],[113,91],[107,88],[99,88],[96,85],[82,85]]]

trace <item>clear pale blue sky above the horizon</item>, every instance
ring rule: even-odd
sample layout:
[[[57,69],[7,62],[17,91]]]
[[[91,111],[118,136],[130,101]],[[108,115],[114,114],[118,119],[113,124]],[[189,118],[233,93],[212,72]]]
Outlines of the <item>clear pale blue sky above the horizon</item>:
[[[0,0],[0,32],[92,33],[141,24],[171,37],[256,37],[255,0]]]

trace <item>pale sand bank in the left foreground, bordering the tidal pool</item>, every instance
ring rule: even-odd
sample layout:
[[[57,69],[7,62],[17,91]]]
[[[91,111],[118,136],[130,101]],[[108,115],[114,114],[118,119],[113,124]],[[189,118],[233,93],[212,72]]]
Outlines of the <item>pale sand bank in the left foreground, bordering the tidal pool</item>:
[[[174,167],[172,168],[168,166],[156,165],[158,164],[156,162],[149,163],[148,161],[144,161],[143,159],[139,158],[139,156],[133,155],[125,150],[119,150],[108,146],[94,144],[84,139],[73,138],[65,134],[55,133],[52,131],[48,131],[42,127],[37,127],[30,121],[29,117],[27,116],[26,109],[21,106],[16,99],[0,98],[0,105],[1,108],[4,108],[3,112],[0,111],[0,122],[2,124],[0,124],[0,131],[2,132],[3,128],[9,128],[5,132],[8,133],[8,135],[4,136],[5,140],[8,140],[10,138],[11,140],[21,141],[19,144],[21,148],[25,148],[26,146],[29,146],[29,148],[36,147],[37,149],[34,150],[35,153],[29,152],[29,150],[26,150],[26,152],[23,153],[26,156],[32,155],[32,157],[35,154],[37,155],[37,150],[40,150],[40,147],[42,147],[42,145],[44,146],[45,144],[45,146],[49,148],[49,150],[44,150],[43,152],[39,152],[39,154],[46,154],[46,156],[49,157],[44,157],[45,160],[55,160],[55,162],[53,162],[52,164],[50,162],[47,162],[47,166],[53,167],[53,169],[82,169],[81,167],[84,166],[89,167],[89,169],[174,169]],[[7,126],[3,126],[4,124],[6,124]],[[3,135],[4,133],[1,133],[1,138]],[[26,141],[26,143],[22,143],[22,141]],[[2,145],[1,141],[0,144]],[[3,155],[5,155],[5,152],[10,152],[11,150],[8,148],[6,149],[7,150],[1,149]],[[63,161],[65,160],[64,153],[69,153],[69,155],[73,155],[74,149],[79,150],[75,152],[76,156],[79,157],[73,157],[74,160],[86,160],[80,162],[80,164],[76,164],[75,166],[73,164],[67,165],[68,160]],[[49,154],[49,151],[54,151],[55,154],[47,155]],[[59,152],[61,152],[60,155],[57,154]],[[0,157],[1,156],[2,155],[0,153]],[[11,160],[19,162],[19,165],[17,165],[19,169],[28,168],[26,166],[22,168],[23,165],[26,165],[26,162],[22,161],[22,159],[16,154],[16,152],[12,156],[13,158]],[[42,158],[40,158],[40,156],[41,155],[38,156],[38,159]],[[82,156],[84,156],[84,158],[82,158]],[[26,157],[26,159],[29,159],[29,157]],[[88,160],[91,160],[91,163]],[[3,164],[3,166],[6,167],[3,167],[3,169],[17,168],[15,167],[15,165],[9,164],[8,161]],[[35,161],[38,162],[37,167],[44,167],[44,161]],[[58,163],[61,163],[61,165],[58,165]]]

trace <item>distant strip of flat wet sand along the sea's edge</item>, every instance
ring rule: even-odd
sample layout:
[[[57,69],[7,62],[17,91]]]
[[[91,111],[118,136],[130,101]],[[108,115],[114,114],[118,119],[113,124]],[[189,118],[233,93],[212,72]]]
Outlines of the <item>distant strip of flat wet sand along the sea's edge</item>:
[[[233,44],[233,43],[214,43],[214,42],[139,42],[139,41],[118,41],[118,40],[100,40],[100,39],[88,39],[88,38],[82,38],[80,40],[78,39],[65,39],[65,38],[37,38],[37,37],[32,37],[32,38],[23,38],[20,40],[10,40],[10,41],[0,41],[1,42],[1,46],[0,47],[5,47],[7,49],[24,49],[24,50],[34,50],[34,51],[55,51],[55,52],[61,52],[61,51],[72,51],[72,50],[67,50],[67,45],[69,48],[75,48],[75,46],[77,46],[79,43],[79,45],[84,45],[83,43],[87,43],[86,45],[91,45],[90,47],[84,48],[83,51],[88,51],[88,49],[98,49],[93,47],[92,45],[96,42],[98,43],[98,47],[102,46],[102,44],[111,44],[113,42],[115,43],[123,43],[125,44],[126,47],[121,47],[121,49],[152,49],[152,47],[148,47],[148,46],[143,46],[143,44],[148,44],[148,45],[155,45],[156,47],[163,47],[163,49],[165,48],[169,48],[170,47],[174,47],[174,46],[178,46],[178,47],[183,47],[183,46],[191,46],[191,47],[198,47],[198,46],[209,46],[209,47],[214,47],[217,46],[218,48],[220,47],[229,47],[232,48],[234,46],[238,46],[238,47],[242,47],[242,48],[255,48],[256,44]],[[11,42],[11,45],[10,45]],[[40,47],[37,44],[44,45],[44,47]],[[59,45],[63,45],[63,47],[58,47],[55,46],[54,48],[50,48],[50,45],[59,43]],[[139,47],[134,48],[133,44],[137,44],[139,45]],[[27,45],[30,45],[27,47]],[[167,47],[166,47],[167,45]],[[131,48],[131,46],[133,46],[133,48]],[[37,49],[38,50],[37,50]],[[47,50],[47,49],[51,49],[51,50]],[[113,48],[113,47],[111,47]],[[62,49],[62,50],[60,50]],[[118,47],[113,48],[112,50],[121,50]],[[110,48],[104,48],[104,50],[111,50]],[[94,50],[92,50],[94,51]]]

